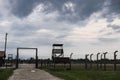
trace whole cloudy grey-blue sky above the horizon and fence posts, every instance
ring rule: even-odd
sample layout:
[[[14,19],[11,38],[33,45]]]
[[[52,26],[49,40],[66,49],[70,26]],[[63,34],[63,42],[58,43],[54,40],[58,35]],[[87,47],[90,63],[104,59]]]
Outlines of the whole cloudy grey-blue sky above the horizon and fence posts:
[[[0,50],[6,32],[14,56],[17,47],[37,47],[39,58],[50,58],[52,44],[63,43],[65,56],[108,51],[112,59],[120,51],[120,0],[0,0]]]

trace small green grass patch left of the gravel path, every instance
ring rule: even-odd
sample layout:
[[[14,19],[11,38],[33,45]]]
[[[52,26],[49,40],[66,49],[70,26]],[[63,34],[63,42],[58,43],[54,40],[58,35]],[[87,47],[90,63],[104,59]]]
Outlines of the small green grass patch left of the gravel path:
[[[7,80],[13,74],[14,69],[0,69],[0,80]]]

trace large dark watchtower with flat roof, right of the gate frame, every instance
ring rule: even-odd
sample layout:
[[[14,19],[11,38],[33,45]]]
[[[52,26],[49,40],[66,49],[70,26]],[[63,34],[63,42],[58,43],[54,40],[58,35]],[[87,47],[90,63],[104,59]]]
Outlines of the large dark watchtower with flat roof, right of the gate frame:
[[[69,69],[71,69],[71,57],[64,57],[64,51],[63,51],[63,44],[53,44],[53,49],[52,49],[52,62],[54,64],[54,68],[56,64],[69,64]]]

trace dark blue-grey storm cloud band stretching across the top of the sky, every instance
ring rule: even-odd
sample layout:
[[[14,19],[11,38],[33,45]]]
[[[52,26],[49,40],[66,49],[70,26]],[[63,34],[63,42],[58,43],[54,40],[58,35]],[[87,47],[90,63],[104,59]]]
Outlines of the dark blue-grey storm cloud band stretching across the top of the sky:
[[[63,5],[67,2],[75,4],[74,12]],[[109,18],[108,21],[112,21],[109,15],[112,13],[120,13],[120,0],[11,0],[12,13],[20,18],[28,16],[33,9],[39,5],[44,4],[44,12],[49,13],[52,11],[58,11],[61,16],[58,20],[70,20],[75,22],[78,20],[83,20],[89,17],[92,13],[101,10],[105,2],[108,4],[105,7],[109,8],[106,14],[103,14],[104,17]],[[108,14],[109,13],[109,14]]]

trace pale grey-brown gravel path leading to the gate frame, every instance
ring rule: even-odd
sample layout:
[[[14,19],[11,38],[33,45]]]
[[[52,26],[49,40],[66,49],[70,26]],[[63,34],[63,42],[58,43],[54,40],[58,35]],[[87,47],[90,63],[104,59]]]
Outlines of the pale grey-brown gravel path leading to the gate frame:
[[[8,80],[63,80],[44,70],[35,69],[33,64],[21,64]]]

